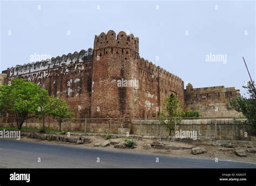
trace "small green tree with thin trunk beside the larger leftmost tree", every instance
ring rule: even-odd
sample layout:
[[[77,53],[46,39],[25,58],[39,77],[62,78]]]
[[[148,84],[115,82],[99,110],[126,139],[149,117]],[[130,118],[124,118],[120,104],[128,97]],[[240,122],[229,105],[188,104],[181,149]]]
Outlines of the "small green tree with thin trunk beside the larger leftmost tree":
[[[62,121],[64,118],[72,118],[74,113],[69,108],[68,102],[60,97],[49,98],[49,103],[45,105],[44,112],[46,115],[57,119],[59,124],[59,132],[61,131]]]

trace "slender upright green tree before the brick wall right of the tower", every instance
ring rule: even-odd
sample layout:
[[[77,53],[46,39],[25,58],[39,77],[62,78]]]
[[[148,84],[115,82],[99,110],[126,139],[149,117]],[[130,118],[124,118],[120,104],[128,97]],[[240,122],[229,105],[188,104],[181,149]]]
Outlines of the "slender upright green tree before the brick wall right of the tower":
[[[176,95],[171,94],[166,97],[163,103],[163,111],[160,112],[158,120],[161,125],[164,125],[169,135],[175,131],[175,125],[180,123],[183,115],[183,106],[180,104]]]

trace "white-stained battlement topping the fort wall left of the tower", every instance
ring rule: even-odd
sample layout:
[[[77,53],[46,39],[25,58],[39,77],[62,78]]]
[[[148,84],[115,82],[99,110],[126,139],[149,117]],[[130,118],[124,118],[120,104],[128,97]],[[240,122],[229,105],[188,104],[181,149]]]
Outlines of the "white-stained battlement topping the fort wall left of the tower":
[[[46,59],[37,62],[26,63],[24,65],[16,65],[7,69],[8,77],[17,76],[21,74],[29,74],[35,71],[41,71],[51,68],[58,68],[61,66],[71,65],[82,61],[92,60],[92,48],[87,51],[82,49],[79,53],[74,52],[67,55],[57,56],[56,58]],[[6,71],[5,71],[6,72]]]

